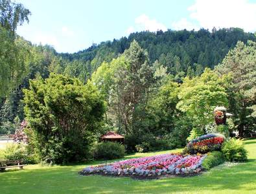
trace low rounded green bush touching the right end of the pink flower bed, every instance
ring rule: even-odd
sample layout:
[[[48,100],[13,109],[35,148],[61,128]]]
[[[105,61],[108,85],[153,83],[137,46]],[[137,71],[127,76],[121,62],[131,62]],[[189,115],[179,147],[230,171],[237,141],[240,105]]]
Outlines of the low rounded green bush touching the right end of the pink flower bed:
[[[211,167],[218,166],[224,163],[224,155],[221,151],[213,151],[207,153],[207,157],[202,162],[204,169],[210,169]]]

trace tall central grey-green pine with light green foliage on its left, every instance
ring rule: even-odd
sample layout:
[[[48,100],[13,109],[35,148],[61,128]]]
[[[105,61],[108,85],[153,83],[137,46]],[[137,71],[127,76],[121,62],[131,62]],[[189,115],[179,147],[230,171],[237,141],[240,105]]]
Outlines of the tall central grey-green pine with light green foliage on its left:
[[[145,51],[133,41],[122,56],[102,63],[92,81],[108,102],[108,118],[112,118],[123,133],[133,133],[154,81]]]

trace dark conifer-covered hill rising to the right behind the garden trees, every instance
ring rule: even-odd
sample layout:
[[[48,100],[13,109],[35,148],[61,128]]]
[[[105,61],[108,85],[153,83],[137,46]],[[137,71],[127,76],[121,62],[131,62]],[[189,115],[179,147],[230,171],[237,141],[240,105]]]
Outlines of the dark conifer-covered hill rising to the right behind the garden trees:
[[[92,71],[100,66],[102,61],[111,61],[118,54],[130,47],[130,43],[136,40],[139,45],[147,50],[150,63],[156,59],[168,67],[172,74],[184,71],[187,72],[189,66],[194,71],[202,72],[204,67],[213,68],[222,62],[229,49],[235,47],[237,41],[246,42],[248,39],[256,40],[254,34],[246,33],[240,28],[215,28],[198,31],[180,30],[167,32],[135,32],[128,38],[113,39],[104,41],[99,45],[93,45],[86,50],[74,54],[60,54],[63,59],[69,61],[82,60],[91,61],[89,68]],[[89,65],[87,63],[87,65]]]

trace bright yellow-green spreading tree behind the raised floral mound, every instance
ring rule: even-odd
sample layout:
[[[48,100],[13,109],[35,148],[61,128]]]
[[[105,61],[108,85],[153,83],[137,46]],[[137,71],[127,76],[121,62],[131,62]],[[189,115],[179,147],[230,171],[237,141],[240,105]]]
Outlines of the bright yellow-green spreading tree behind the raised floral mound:
[[[178,94],[177,108],[187,114],[193,127],[204,129],[213,123],[213,110],[216,105],[227,106],[227,94],[224,84],[226,76],[219,77],[215,72],[205,69],[200,77],[185,78]]]

